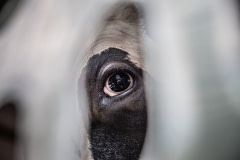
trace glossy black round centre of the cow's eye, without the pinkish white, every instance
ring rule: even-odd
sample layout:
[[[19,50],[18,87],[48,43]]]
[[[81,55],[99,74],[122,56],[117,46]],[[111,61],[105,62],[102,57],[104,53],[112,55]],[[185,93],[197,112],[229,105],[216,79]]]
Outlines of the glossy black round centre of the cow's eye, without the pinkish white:
[[[128,74],[124,72],[118,72],[113,74],[108,81],[110,89],[114,92],[121,92],[128,88],[131,83],[131,79]]]

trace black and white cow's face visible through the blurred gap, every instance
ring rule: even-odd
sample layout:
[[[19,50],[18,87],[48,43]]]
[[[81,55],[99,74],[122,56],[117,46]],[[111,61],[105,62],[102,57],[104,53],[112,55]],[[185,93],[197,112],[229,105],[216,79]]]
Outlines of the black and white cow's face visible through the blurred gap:
[[[95,160],[139,158],[147,124],[143,68],[138,9],[118,5],[94,42],[81,75]]]

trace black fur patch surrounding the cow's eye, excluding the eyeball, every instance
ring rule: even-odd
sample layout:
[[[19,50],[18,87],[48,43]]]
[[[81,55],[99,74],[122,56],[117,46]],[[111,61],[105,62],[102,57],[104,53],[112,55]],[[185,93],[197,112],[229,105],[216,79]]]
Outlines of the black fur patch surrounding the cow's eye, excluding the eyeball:
[[[106,67],[109,64],[111,67]],[[129,61],[127,52],[116,48],[91,57],[84,70],[94,159],[137,160],[147,124],[142,70]],[[103,92],[105,81],[119,70],[128,72],[134,79],[134,85],[126,93],[109,97]]]

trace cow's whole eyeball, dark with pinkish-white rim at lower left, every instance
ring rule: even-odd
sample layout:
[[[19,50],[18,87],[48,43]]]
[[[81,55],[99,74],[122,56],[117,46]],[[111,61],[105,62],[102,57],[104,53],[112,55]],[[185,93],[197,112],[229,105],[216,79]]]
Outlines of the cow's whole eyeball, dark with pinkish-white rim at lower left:
[[[113,97],[128,91],[132,86],[132,76],[127,72],[119,71],[107,78],[103,91],[108,96]]]

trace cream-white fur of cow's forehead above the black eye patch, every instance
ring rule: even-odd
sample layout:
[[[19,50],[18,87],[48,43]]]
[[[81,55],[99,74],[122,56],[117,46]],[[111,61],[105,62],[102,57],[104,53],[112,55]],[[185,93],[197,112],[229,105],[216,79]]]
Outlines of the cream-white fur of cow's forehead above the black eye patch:
[[[121,49],[128,53],[128,59],[137,67],[144,69],[142,49],[142,28],[140,26],[139,10],[136,6],[126,11],[126,7],[112,10],[103,22],[98,36],[86,52],[84,65],[93,55],[100,54],[108,48]],[[124,16],[117,14],[126,13]],[[115,15],[115,16],[113,16]],[[132,17],[129,21],[129,17]]]

